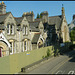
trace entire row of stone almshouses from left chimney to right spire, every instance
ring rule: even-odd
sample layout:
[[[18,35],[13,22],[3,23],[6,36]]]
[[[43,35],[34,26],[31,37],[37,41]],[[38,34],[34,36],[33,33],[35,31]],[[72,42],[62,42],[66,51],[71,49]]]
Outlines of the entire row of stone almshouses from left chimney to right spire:
[[[64,7],[60,16],[48,17],[48,12],[45,11],[42,18],[34,19],[33,12],[14,17],[11,12],[6,12],[5,3],[0,3],[0,57],[59,41],[70,41]]]

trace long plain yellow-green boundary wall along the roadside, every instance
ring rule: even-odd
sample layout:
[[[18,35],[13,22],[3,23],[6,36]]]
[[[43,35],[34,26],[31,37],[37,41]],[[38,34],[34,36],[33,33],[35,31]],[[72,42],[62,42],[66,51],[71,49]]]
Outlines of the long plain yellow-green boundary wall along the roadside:
[[[48,49],[51,50],[53,54],[52,46],[48,46],[37,50],[26,51],[1,57],[0,74],[15,74],[20,72],[22,67],[37,62],[41,60],[43,56],[46,56]]]

